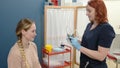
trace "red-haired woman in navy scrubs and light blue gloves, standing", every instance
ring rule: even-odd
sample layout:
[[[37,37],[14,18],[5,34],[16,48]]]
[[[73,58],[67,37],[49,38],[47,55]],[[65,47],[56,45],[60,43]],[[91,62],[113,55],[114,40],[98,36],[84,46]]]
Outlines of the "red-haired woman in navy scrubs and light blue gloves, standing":
[[[80,68],[107,68],[106,56],[115,37],[108,23],[103,0],[90,0],[86,6],[90,23],[84,31],[81,43],[70,37],[73,47],[81,52]]]

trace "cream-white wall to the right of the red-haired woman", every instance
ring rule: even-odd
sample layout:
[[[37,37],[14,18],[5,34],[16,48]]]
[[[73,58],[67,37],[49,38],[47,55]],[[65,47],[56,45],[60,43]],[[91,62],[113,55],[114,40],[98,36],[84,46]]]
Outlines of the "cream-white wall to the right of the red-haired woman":
[[[114,27],[116,34],[120,34],[120,0],[105,1],[109,23]]]

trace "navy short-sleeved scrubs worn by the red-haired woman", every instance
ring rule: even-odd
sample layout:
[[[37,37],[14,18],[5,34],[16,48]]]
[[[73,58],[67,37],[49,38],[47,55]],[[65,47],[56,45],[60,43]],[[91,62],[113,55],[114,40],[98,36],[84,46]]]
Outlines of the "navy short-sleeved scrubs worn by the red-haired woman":
[[[98,46],[110,48],[115,37],[113,27],[106,22],[99,24],[92,30],[90,30],[91,26],[92,23],[87,25],[82,37],[81,45],[91,50],[98,50]],[[107,68],[106,59],[104,61],[98,61],[81,53],[80,68],[84,68],[86,62],[89,62],[87,68]]]

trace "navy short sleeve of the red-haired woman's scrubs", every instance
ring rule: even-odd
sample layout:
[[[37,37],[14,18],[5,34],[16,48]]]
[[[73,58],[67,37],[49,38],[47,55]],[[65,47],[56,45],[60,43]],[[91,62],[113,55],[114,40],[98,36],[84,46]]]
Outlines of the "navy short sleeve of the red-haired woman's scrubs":
[[[103,25],[99,35],[98,45],[106,48],[110,48],[111,43],[115,37],[115,32],[110,25]]]

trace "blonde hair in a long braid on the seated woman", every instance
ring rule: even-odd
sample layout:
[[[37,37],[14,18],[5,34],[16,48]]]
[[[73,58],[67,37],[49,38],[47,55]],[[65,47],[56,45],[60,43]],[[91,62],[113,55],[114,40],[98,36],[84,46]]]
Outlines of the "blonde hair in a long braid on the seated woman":
[[[17,38],[18,38],[17,44],[18,44],[18,47],[19,47],[21,57],[25,62],[26,68],[30,68],[30,65],[29,65],[29,63],[27,61],[27,58],[26,58],[26,55],[25,55],[25,51],[24,51],[24,47],[23,47],[23,43],[22,43],[22,33],[21,33],[21,31],[22,30],[27,31],[32,26],[33,23],[34,22],[32,20],[30,20],[28,18],[25,18],[25,19],[21,19],[18,22],[17,27],[16,27],[16,35],[17,35]]]

